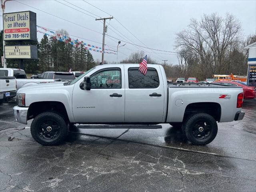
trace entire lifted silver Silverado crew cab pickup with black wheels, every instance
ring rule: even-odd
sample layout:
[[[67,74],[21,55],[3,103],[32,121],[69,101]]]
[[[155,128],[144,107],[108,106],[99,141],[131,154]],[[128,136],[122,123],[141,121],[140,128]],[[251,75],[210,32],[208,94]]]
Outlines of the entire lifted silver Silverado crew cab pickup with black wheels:
[[[21,88],[17,103],[16,120],[34,119],[31,134],[43,145],[62,142],[73,124],[160,128],[160,123],[180,126],[192,144],[205,145],[217,134],[216,122],[244,117],[241,87],[168,84],[156,64],[148,64],[145,76],[138,64],[99,65],[71,82]]]

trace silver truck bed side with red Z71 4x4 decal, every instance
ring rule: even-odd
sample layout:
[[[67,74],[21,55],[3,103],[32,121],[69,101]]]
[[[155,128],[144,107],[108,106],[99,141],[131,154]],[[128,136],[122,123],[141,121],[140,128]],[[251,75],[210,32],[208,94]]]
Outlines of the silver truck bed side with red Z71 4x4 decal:
[[[219,122],[233,121],[238,110],[237,96],[242,92],[242,87],[216,83],[168,83],[166,122],[182,122],[184,116],[180,114],[185,114],[186,108],[192,103],[218,104],[221,106]]]

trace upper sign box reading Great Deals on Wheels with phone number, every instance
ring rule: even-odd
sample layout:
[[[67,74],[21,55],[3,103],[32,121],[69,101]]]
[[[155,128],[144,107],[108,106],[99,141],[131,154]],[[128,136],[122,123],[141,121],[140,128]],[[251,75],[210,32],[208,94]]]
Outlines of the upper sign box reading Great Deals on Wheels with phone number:
[[[36,41],[36,13],[31,11],[3,14],[4,40]]]

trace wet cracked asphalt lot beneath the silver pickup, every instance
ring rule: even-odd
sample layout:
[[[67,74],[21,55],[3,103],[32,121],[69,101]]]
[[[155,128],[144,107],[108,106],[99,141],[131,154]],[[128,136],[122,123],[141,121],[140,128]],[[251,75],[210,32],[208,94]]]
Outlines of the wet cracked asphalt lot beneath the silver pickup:
[[[256,100],[242,121],[218,123],[215,140],[193,146],[181,130],[74,129],[42,146],[30,124],[0,106],[0,191],[256,191]]]

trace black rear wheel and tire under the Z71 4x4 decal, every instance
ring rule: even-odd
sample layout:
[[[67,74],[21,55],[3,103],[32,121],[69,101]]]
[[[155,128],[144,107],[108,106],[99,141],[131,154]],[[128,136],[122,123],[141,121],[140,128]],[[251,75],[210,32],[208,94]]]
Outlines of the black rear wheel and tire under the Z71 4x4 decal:
[[[194,145],[206,145],[214,140],[218,132],[216,120],[205,113],[189,116],[182,126],[186,138]]]

